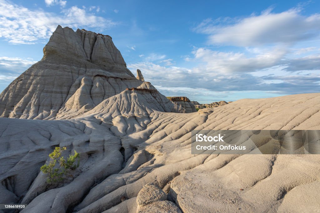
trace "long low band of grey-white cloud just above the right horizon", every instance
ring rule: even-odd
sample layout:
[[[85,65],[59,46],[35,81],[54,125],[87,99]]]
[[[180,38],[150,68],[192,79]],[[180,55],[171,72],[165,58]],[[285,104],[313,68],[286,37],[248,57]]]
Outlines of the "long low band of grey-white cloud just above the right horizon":
[[[259,63],[255,66],[260,66]],[[299,70],[299,66],[304,67],[302,64],[307,63],[306,61],[288,60],[286,63],[288,64],[283,66],[260,69],[258,72],[233,72],[232,75],[212,70],[205,61],[200,61],[199,65],[193,68],[165,67],[153,62],[140,62],[127,66],[131,70],[140,69],[144,78],[156,85],[157,89],[161,89],[160,92],[165,95],[185,95],[194,100],[197,100],[198,96],[217,100],[214,97],[210,98],[210,94],[204,90],[211,91],[212,96],[217,96],[221,92],[233,92],[242,97],[244,95],[240,91],[246,91],[252,98],[319,92],[320,62],[317,65],[319,69],[305,71]],[[299,71],[294,70],[295,68]],[[256,75],[258,73],[260,74]],[[239,98],[234,96],[233,99]]]

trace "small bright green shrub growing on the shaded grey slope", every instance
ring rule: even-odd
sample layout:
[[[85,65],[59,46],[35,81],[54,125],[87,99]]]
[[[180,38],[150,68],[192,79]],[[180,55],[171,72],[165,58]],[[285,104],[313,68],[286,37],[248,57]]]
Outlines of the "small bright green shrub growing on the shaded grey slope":
[[[69,155],[69,157],[64,159],[61,156],[62,151],[65,151],[67,147],[56,147],[52,153],[49,154],[50,161],[48,164],[44,164],[40,170],[44,174],[48,174],[49,177],[47,179],[48,184],[62,182],[65,179],[65,176],[70,173],[71,170],[75,170],[79,167],[80,156],[79,153],[76,152],[74,155]],[[75,164],[76,160],[77,163]]]

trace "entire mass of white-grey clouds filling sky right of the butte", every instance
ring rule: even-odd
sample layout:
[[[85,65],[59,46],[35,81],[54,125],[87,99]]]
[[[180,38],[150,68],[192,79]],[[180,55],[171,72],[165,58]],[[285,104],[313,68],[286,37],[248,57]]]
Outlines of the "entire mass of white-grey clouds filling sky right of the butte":
[[[192,67],[159,67],[164,60],[129,66],[139,67],[164,94],[180,92],[191,99],[208,99],[209,91],[226,99],[241,91],[252,98],[319,92],[320,14],[304,16],[301,8],[272,10],[203,20],[193,31],[208,35],[209,46],[194,47],[192,56],[185,57]]]

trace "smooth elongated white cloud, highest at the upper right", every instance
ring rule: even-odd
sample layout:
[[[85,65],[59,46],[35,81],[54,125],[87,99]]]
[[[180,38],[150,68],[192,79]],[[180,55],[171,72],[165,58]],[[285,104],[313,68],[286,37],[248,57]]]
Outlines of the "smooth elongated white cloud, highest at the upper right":
[[[271,9],[260,15],[238,19],[233,24],[204,20],[194,30],[209,34],[210,44],[255,46],[275,43],[295,43],[318,37],[320,14],[303,16],[294,8],[281,13]]]

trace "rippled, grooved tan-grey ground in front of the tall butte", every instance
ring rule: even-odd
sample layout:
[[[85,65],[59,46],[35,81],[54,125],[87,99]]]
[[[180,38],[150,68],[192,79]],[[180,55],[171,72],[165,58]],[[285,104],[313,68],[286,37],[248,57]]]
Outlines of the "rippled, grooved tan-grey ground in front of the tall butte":
[[[110,107],[126,110],[112,115]],[[23,212],[130,212],[141,188],[156,183],[183,212],[319,211],[318,155],[190,151],[194,129],[319,129],[319,93],[244,99],[192,114],[159,112],[151,104],[149,115],[130,113],[143,107],[106,104],[61,121],[0,118],[1,199],[30,202]],[[64,186],[44,192],[39,167],[54,146],[80,152],[81,165]]]

